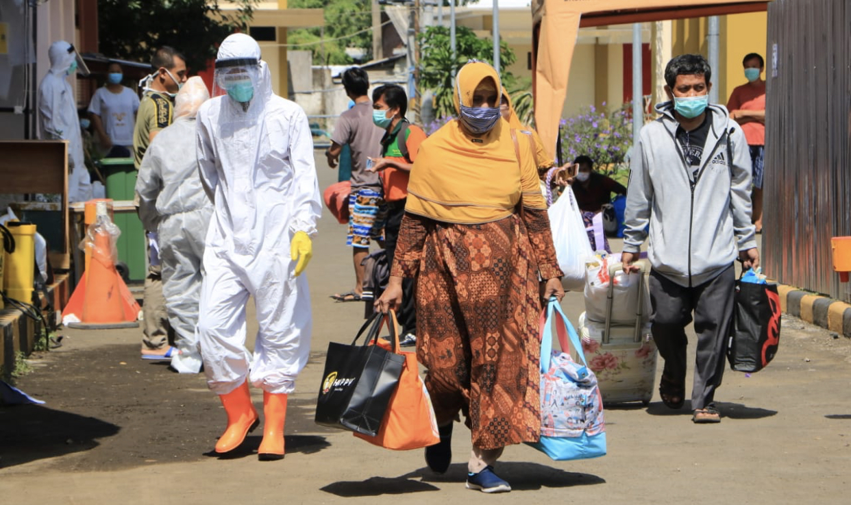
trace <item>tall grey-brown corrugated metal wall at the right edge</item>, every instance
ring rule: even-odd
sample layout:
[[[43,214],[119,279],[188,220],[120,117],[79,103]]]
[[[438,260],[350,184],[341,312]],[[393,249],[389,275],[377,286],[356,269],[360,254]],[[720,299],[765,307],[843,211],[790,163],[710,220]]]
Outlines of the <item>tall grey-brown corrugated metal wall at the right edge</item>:
[[[763,270],[851,301],[831,237],[851,235],[851,2],[768,5]]]

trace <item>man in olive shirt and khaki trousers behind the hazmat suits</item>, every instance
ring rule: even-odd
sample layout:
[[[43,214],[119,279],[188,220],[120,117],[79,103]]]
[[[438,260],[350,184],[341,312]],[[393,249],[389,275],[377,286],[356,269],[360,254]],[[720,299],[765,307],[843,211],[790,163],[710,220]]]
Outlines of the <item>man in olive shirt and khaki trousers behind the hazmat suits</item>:
[[[174,95],[180,85],[186,83],[186,60],[183,55],[168,46],[157,49],[151,60],[154,72],[144,87],[145,95],[139,105],[139,114],[133,132],[133,163],[138,170],[142,158],[153,138],[159,131],[172,122]],[[145,324],[142,336],[142,359],[171,359],[177,349],[168,345],[172,334],[168,324],[168,313],[163,297],[163,278],[161,276],[157,233],[148,230],[149,264],[145,278]]]

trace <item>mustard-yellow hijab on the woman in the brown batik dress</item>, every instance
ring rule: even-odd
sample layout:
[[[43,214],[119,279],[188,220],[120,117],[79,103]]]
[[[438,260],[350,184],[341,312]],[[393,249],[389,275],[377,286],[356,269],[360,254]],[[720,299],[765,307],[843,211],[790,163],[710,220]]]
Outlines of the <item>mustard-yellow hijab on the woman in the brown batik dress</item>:
[[[494,67],[467,63],[455,76],[455,112],[472,106],[473,93],[485,79],[501,89]],[[546,209],[538,185],[534,147],[528,132],[517,131],[517,163],[512,129],[501,119],[483,135],[472,135],[459,120],[443,125],[423,141],[408,181],[405,210],[436,221],[477,224],[511,215],[523,205]]]

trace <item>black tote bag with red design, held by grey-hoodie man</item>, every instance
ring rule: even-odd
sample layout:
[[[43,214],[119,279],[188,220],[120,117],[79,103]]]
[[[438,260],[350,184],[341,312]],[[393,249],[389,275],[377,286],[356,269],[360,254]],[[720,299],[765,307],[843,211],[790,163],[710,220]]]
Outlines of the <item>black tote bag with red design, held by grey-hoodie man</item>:
[[[730,368],[755,372],[774,359],[780,346],[777,284],[736,281],[733,329],[727,350]]]

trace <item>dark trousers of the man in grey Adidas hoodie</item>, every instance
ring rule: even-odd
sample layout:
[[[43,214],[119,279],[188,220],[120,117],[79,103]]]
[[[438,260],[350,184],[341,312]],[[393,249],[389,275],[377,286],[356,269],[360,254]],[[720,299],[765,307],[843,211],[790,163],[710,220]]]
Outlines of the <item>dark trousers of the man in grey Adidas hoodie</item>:
[[[730,265],[716,278],[696,287],[683,287],[650,272],[650,302],[654,341],[665,359],[665,376],[681,381],[686,376],[685,327],[692,321],[697,334],[692,409],[703,409],[715,398],[726,368],[725,354],[733,321],[735,269]]]

